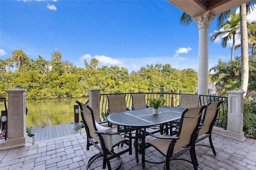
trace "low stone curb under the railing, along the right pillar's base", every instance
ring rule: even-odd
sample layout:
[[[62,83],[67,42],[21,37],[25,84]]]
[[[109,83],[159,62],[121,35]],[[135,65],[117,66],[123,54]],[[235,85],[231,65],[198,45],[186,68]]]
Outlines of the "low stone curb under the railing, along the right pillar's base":
[[[216,134],[221,134],[222,136],[228,137],[228,138],[232,138],[234,140],[238,140],[240,142],[244,142],[244,140],[246,140],[246,137],[244,137],[244,132],[233,132],[230,130],[225,130],[224,128],[221,127],[216,127],[214,126],[212,128],[212,132],[216,133]]]

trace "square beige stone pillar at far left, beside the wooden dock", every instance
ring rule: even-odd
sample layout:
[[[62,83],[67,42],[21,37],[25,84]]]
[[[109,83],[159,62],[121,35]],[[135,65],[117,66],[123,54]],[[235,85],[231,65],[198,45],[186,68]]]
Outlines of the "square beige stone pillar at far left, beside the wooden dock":
[[[5,90],[8,93],[8,140],[4,149],[18,148],[26,144],[26,91],[27,89]]]

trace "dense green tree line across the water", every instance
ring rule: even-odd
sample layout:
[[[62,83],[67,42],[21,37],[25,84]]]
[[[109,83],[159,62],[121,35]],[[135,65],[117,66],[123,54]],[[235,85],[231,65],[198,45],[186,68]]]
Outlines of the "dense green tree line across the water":
[[[101,93],[159,92],[164,85],[165,92],[194,91],[198,73],[193,69],[182,71],[173,69],[170,64],[147,65],[130,74],[124,67],[96,66],[84,61],[84,68],[78,68],[69,61],[60,61],[61,54],[55,51],[52,60],[40,55],[36,60],[29,59],[21,50],[14,51],[12,58],[0,59],[0,97],[6,97],[6,89],[27,89],[26,99],[57,99],[88,96],[88,89],[102,89]],[[22,57],[19,57],[22,56]],[[10,71],[14,67],[15,71]],[[8,68],[6,70],[6,68]]]

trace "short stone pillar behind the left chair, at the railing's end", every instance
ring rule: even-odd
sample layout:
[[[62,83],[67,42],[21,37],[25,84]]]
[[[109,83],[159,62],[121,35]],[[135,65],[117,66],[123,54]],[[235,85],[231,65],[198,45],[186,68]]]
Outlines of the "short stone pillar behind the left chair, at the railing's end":
[[[101,89],[88,89],[89,91],[89,106],[94,113],[94,119],[100,122],[100,91]]]

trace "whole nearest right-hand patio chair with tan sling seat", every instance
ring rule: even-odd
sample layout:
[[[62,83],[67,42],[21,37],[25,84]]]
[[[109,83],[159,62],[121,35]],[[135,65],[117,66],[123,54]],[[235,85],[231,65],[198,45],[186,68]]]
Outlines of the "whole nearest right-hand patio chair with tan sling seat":
[[[191,109],[186,109],[182,113],[180,119],[180,125],[178,129],[178,133],[174,136],[164,135],[158,136],[147,132],[145,130],[142,131],[142,167],[145,168],[145,162],[149,162],[152,164],[160,164],[165,163],[164,168],[170,170],[170,161],[172,160],[185,160],[193,164],[194,169],[197,168],[196,158],[195,156],[195,140],[198,135],[199,124],[201,120],[202,111],[207,106],[199,106]],[[145,142],[145,136],[154,137],[153,140]],[[153,162],[153,160],[145,159],[145,150],[150,146],[154,147],[160,154],[165,156],[165,160],[161,162]],[[150,152],[154,153],[154,149],[151,149]],[[178,158],[180,155],[184,154],[187,151],[190,151],[191,160],[186,160],[182,158]]]

